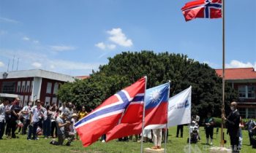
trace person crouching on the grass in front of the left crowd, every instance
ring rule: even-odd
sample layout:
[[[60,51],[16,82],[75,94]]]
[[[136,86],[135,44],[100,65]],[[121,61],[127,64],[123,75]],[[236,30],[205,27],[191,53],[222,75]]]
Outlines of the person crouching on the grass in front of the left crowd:
[[[65,127],[70,126],[70,122],[68,119],[69,114],[67,112],[64,112],[61,114],[60,117],[57,117],[56,123],[57,123],[57,135],[58,135],[58,141],[50,141],[50,144],[53,145],[63,145],[65,138],[68,138],[66,146],[70,146],[71,142],[74,139],[74,136],[69,135],[69,132],[65,131]]]

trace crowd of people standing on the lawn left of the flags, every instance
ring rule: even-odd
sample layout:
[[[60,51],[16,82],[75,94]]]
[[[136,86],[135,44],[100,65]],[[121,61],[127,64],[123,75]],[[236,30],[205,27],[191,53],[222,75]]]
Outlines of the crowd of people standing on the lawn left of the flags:
[[[5,98],[0,104],[0,139],[3,139],[4,132],[7,138],[18,138],[15,131],[21,135],[26,135],[27,140],[38,140],[38,136],[43,138],[58,138],[58,141],[50,141],[53,145],[62,145],[67,139],[67,146],[78,138],[74,124],[78,119],[82,119],[88,113],[84,106],[78,111],[71,102],[63,103],[60,108],[56,104],[43,106],[37,99],[26,103],[20,107],[20,99],[10,101]]]

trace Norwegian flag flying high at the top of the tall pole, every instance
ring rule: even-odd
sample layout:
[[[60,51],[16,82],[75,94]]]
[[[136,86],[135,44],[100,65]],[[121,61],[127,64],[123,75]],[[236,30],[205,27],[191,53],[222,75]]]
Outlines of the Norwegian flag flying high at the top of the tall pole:
[[[222,17],[222,0],[190,1],[181,8],[186,21],[199,18]]]

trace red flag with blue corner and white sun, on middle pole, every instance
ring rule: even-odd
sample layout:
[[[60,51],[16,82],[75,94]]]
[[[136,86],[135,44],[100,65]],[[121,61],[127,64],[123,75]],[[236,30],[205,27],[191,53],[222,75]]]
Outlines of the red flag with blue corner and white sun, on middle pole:
[[[146,90],[145,97],[145,127],[165,125],[167,123],[167,103],[170,83],[152,87]],[[107,133],[107,141],[142,132],[143,103],[129,105],[121,122]]]

